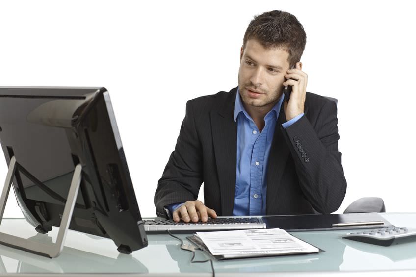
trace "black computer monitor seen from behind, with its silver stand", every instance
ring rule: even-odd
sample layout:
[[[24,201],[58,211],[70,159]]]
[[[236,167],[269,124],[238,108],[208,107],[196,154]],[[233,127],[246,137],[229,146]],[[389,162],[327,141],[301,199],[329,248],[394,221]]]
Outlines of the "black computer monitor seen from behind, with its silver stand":
[[[147,245],[105,88],[0,87],[0,140],[9,165],[0,224],[11,186],[38,232],[60,226],[50,249],[4,233],[1,244],[54,257],[69,225],[111,238],[119,252]]]

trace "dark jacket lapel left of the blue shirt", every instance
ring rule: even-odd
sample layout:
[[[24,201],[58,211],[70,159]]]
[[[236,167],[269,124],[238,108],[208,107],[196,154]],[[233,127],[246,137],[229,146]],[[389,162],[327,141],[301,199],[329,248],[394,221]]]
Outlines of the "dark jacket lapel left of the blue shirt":
[[[212,140],[223,216],[233,214],[235,174],[237,171],[237,123],[234,105],[237,89],[230,91],[224,106],[211,111]]]

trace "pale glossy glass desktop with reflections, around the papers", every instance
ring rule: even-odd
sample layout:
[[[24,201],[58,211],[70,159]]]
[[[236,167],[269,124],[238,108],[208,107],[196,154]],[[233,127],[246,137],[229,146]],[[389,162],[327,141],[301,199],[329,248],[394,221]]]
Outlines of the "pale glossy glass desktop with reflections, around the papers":
[[[399,227],[416,227],[416,213],[382,213],[386,220]],[[24,219],[4,219],[0,230],[29,240],[54,241],[57,228],[48,235],[37,234]],[[273,273],[292,276],[416,276],[416,242],[389,247],[342,239],[350,230],[303,231],[292,234],[325,252],[307,255],[214,261],[216,276],[257,276]],[[184,241],[188,234],[178,235]],[[120,273],[144,275],[211,276],[209,263],[190,263],[192,254],[180,250],[179,241],[169,235],[148,235],[149,246],[120,254],[114,243],[105,238],[68,231],[65,247],[57,258],[46,258],[0,245],[1,274],[72,273],[117,276]],[[196,260],[208,257],[197,252]],[[111,275],[112,274],[112,275]],[[130,276],[130,275],[129,275]]]

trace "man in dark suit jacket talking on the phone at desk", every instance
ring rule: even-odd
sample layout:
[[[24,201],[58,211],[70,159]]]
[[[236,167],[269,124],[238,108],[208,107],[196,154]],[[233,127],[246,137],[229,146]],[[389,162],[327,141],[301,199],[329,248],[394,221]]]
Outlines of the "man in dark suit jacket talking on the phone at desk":
[[[271,11],[248,26],[238,87],[190,100],[155,194],[158,216],[331,213],[346,181],[334,101],[306,92],[306,34]],[[283,90],[291,86],[290,98]],[[204,182],[205,204],[196,200]]]

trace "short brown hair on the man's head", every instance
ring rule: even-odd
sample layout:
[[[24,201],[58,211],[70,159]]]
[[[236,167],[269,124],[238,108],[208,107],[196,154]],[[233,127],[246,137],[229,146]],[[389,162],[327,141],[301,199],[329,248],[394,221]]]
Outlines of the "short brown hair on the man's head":
[[[249,39],[256,39],[266,49],[287,51],[289,65],[293,66],[305,50],[306,33],[294,15],[274,10],[254,17],[244,34],[243,48]]]

